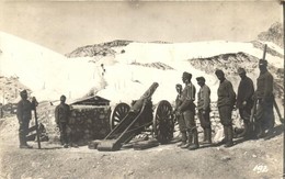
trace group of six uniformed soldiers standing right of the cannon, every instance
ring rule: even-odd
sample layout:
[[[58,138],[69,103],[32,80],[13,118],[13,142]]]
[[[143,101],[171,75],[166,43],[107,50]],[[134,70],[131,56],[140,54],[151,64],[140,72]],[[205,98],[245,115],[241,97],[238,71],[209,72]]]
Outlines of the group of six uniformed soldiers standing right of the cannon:
[[[225,147],[233,145],[233,128],[232,128],[232,110],[239,110],[240,118],[243,121],[244,130],[240,137],[244,139],[265,137],[274,127],[273,113],[273,76],[267,70],[267,61],[259,60],[260,76],[256,79],[256,90],[254,91],[252,80],[247,76],[244,68],[239,68],[238,74],[241,78],[238,93],[233,90],[232,83],[226,79],[223,70],[215,71],[219,80],[217,90],[217,108],[220,123],[224,127],[224,139],[219,144],[225,144]],[[195,114],[203,128],[204,138],[202,144],[212,144],[212,124],[210,124],[210,88],[205,83],[204,77],[197,77],[197,83],[201,87],[197,92],[197,104],[195,101],[196,89],[191,81],[192,74],[183,72],[182,81],[185,87],[182,90],[182,85],[175,86],[178,97],[175,100],[175,116],[181,132],[181,148],[197,149],[200,147],[198,133],[195,122]],[[252,120],[254,118],[254,120]],[[265,133],[266,132],[266,133]]]

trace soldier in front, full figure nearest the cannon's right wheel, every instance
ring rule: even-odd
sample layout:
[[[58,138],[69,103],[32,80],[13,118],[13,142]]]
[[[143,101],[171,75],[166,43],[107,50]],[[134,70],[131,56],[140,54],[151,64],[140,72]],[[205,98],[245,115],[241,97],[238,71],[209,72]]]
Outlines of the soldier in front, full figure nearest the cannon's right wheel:
[[[178,115],[182,115],[185,122],[186,131],[182,132],[182,135],[186,136],[187,133],[187,143],[182,145],[181,148],[196,149],[198,148],[198,133],[195,123],[195,92],[196,89],[194,85],[191,82],[192,75],[189,72],[183,72],[182,81],[185,83],[185,87],[182,91],[181,101],[182,103],[179,105],[176,113]],[[192,141],[194,138],[194,144],[192,145]]]

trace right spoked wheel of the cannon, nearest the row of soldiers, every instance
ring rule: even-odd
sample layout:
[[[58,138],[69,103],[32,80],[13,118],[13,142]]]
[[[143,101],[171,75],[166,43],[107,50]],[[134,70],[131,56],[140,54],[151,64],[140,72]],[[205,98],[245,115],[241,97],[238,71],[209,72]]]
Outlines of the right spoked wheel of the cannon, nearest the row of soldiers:
[[[171,104],[162,100],[153,115],[153,136],[161,143],[166,144],[173,138],[174,121]]]

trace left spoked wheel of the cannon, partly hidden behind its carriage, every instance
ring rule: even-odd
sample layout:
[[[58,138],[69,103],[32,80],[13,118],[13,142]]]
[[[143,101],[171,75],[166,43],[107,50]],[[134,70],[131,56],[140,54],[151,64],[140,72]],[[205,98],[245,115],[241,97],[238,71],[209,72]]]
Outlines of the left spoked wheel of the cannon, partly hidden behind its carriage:
[[[111,113],[110,127],[111,131],[127,115],[130,107],[127,103],[118,103]]]

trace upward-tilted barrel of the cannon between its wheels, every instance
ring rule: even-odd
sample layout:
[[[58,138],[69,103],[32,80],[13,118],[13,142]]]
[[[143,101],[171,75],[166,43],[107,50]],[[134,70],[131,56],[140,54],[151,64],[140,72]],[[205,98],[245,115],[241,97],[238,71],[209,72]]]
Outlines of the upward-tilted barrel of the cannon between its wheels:
[[[153,82],[148,88],[148,90],[140,97],[140,99],[134,103],[134,105],[130,108],[130,112],[139,112],[142,105],[151,99],[158,86],[158,82]]]

